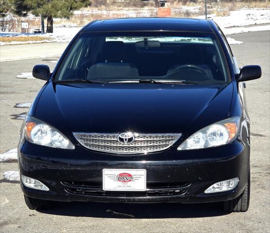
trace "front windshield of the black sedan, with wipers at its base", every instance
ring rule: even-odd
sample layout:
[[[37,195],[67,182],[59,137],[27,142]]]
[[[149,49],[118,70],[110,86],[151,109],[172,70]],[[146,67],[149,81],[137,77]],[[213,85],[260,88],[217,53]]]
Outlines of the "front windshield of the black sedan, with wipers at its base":
[[[228,83],[212,33],[84,33],[70,47],[56,81]],[[85,80],[86,79],[86,80]]]

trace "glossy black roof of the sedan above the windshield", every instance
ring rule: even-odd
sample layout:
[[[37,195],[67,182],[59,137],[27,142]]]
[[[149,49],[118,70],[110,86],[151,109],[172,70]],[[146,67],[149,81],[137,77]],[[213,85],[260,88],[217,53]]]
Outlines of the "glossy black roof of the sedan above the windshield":
[[[96,20],[84,32],[107,31],[188,31],[212,32],[209,20],[196,18],[116,18]]]

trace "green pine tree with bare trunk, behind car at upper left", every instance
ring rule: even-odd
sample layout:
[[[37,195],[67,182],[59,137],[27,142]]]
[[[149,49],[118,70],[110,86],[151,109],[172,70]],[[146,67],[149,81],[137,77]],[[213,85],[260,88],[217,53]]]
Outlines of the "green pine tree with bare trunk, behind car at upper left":
[[[47,18],[47,33],[53,32],[53,18],[70,18],[74,10],[88,6],[90,0],[13,0],[13,12],[26,16]]]

